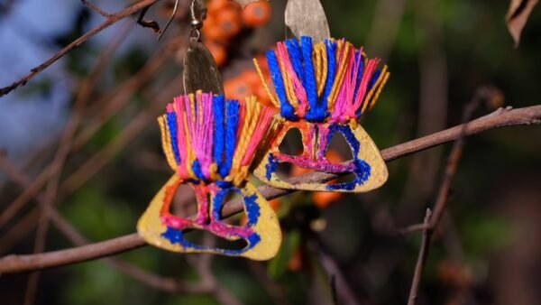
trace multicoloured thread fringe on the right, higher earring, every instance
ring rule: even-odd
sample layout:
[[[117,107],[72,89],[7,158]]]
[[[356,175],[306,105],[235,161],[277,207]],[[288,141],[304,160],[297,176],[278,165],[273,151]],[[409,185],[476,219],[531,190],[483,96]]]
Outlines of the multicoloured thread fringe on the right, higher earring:
[[[267,52],[274,92],[256,69],[280,116],[289,121],[357,124],[376,103],[389,79],[380,59],[368,59],[350,42],[334,39],[312,45],[310,37],[278,42]]]

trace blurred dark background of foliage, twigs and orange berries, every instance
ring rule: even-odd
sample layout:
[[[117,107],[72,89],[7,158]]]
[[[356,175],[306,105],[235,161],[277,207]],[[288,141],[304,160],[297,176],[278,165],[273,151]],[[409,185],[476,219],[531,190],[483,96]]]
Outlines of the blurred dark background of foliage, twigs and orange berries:
[[[130,5],[92,3],[109,13]],[[172,5],[159,1],[145,18],[162,25]],[[207,5],[203,39],[222,70],[227,95],[252,93],[264,101],[253,85],[252,58],[290,37],[285,0],[244,11],[219,0]],[[539,103],[541,8],[534,9],[514,48],[504,18],[508,1],[322,0],[322,5],[335,38],[363,45],[370,57],[390,66],[379,103],[362,119],[380,149],[460,124],[463,106],[485,86],[498,88],[505,106]],[[48,199],[89,241],[134,232],[171,174],[155,117],[183,93],[187,7],[188,1],[180,1],[175,22],[159,42],[151,29],[135,24],[137,16],[126,18],[0,98],[0,255],[74,246],[65,229],[36,229],[37,207]],[[0,85],[22,78],[103,21],[79,1],[0,1]],[[483,105],[474,116],[497,106]],[[417,304],[541,304],[539,139],[538,126],[467,138]],[[288,141],[289,149],[300,147],[295,137]],[[336,161],[347,159],[350,152],[340,139],[332,145]],[[425,209],[434,205],[450,147],[390,162],[387,184],[367,194],[297,192],[273,200],[284,243],[270,262],[171,254],[148,246],[117,255],[124,264],[98,260],[40,277],[2,275],[0,303],[404,304],[421,236],[400,236],[396,228],[422,222]],[[42,173],[55,160],[61,164],[58,192]],[[22,198],[40,179],[41,195],[31,191]],[[141,280],[134,270],[147,275]],[[152,285],[151,275],[187,286],[170,291]]]

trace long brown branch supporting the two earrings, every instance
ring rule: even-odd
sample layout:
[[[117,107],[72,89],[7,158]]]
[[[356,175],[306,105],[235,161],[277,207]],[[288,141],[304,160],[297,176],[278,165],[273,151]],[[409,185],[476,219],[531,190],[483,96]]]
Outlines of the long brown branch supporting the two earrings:
[[[541,123],[541,105],[525,108],[511,109],[500,108],[488,116],[482,116],[468,123],[464,135],[478,134],[500,126],[510,125],[533,125]],[[381,151],[383,159],[390,162],[413,152],[419,152],[442,143],[453,141],[463,133],[463,125],[454,126],[436,134],[413,140],[407,143],[390,147]],[[328,173],[311,172],[293,179],[295,182],[326,181],[333,180],[336,176]],[[260,187],[261,194],[267,199],[286,195],[291,190],[274,189],[269,186]],[[222,213],[223,217],[229,217],[243,210],[243,204],[239,200],[228,202]],[[124,253],[146,245],[144,240],[136,233],[127,236],[115,237],[103,242],[91,245],[52,251],[45,254],[30,255],[7,255],[0,258],[0,273],[20,273],[37,269],[46,269],[62,265],[86,262],[97,258]]]

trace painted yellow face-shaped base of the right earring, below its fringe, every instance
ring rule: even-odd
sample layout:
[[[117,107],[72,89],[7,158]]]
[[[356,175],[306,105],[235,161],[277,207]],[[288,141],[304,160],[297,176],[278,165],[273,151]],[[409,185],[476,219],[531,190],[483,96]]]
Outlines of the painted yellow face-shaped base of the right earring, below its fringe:
[[[303,152],[291,156],[280,152],[280,143],[290,129],[297,128],[302,136]],[[335,134],[342,134],[349,144],[353,160],[334,163],[326,159],[326,151]],[[328,184],[307,182],[292,185],[281,180],[276,173],[279,163],[286,162],[298,167],[325,171],[335,174],[353,173],[355,179],[349,182]],[[307,121],[285,122],[279,134],[271,144],[271,150],[261,159],[254,174],[271,185],[284,189],[307,189],[318,191],[354,191],[362,192],[381,187],[388,178],[387,167],[376,145],[361,125],[317,124]]]

